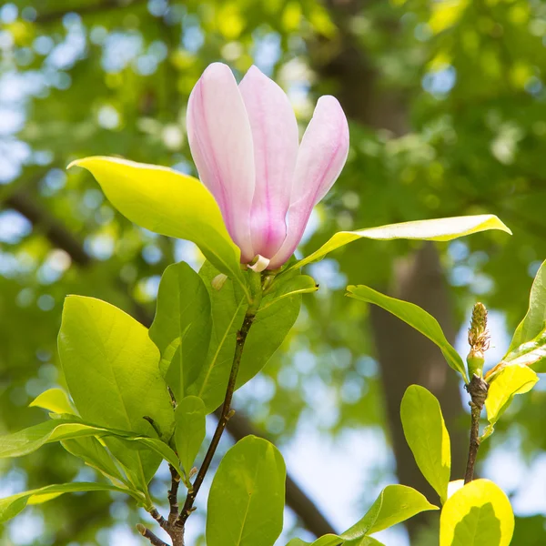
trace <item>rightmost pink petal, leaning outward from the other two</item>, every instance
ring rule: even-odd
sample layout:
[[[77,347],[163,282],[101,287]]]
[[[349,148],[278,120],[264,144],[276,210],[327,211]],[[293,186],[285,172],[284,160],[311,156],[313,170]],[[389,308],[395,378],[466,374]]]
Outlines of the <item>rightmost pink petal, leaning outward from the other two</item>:
[[[287,238],[271,259],[270,269],[279,268],[292,256],[313,207],[339,177],[348,153],[347,118],[336,98],[321,96],[299,147],[288,208]]]

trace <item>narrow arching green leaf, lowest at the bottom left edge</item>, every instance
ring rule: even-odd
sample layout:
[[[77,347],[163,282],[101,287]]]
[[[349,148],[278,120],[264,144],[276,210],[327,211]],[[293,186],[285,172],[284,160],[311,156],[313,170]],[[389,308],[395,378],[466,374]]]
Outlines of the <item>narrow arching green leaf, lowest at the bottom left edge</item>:
[[[27,504],[40,504],[51,501],[64,493],[76,493],[79,491],[118,491],[131,495],[142,503],[143,498],[136,491],[116,487],[108,483],[87,483],[76,481],[74,483],[63,483],[60,485],[48,485],[41,489],[17,493],[11,497],[0,500],[0,523],[11,520],[22,511]]]

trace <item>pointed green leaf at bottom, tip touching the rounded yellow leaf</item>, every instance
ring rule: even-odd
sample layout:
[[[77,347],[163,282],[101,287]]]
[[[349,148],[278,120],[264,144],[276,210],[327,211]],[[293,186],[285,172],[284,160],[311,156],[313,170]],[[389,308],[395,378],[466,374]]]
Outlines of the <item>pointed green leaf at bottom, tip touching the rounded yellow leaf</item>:
[[[348,531],[341,533],[341,537],[360,539],[430,510],[438,510],[438,507],[430,504],[419,491],[406,485],[388,485],[379,493],[365,516]]]

